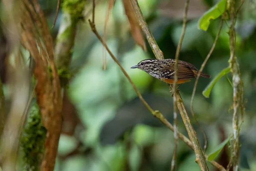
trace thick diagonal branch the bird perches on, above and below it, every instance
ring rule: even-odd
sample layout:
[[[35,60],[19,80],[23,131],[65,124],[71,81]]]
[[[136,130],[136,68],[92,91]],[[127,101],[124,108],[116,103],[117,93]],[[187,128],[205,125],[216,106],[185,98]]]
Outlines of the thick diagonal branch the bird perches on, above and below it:
[[[135,10],[135,13],[136,13],[137,17],[138,17],[139,25],[140,25],[141,29],[143,30],[144,34],[146,35],[146,38],[148,40],[148,43],[151,46],[152,51],[154,52],[154,55],[156,56],[157,59],[163,59],[163,52],[159,49],[153,35],[151,34],[151,32],[148,28],[148,25],[145,22],[143,14],[140,10],[140,7],[137,3],[137,0],[131,0],[131,4],[132,4],[132,6]],[[177,98],[177,106],[178,106],[178,109],[180,111],[180,115],[183,119],[186,130],[189,134],[189,139],[193,142],[193,149],[194,149],[195,154],[196,154],[196,162],[198,162],[201,170],[208,171],[209,169],[207,167],[204,154],[201,150],[201,147],[200,147],[200,144],[198,142],[195,130],[193,129],[193,126],[191,125],[189,116],[186,112],[186,108],[185,108],[185,106],[183,104],[183,101],[180,97],[180,93],[177,92],[176,96],[177,96],[176,97]]]

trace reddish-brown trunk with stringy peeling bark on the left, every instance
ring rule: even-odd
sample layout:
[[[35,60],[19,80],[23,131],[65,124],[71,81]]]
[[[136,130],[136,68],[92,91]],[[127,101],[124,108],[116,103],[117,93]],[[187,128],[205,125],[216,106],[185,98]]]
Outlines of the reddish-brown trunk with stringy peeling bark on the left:
[[[44,13],[37,0],[22,2],[25,9],[21,22],[22,43],[35,60],[35,92],[42,121],[47,129],[41,171],[53,171],[62,125],[61,86],[54,63],[52,37]]]

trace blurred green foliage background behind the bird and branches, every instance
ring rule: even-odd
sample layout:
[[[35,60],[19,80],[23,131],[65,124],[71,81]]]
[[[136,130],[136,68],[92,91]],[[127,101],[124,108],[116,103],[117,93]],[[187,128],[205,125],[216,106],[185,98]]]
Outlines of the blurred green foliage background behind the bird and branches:
[[[108,1],[96,0],[96,29],[103,35]],[[143,15],[165,58],[174,58],[182,29],[185,0],[138,0]],[[190,0],[186,34],[180,59],[200,68],[206,58],[220,20],[211,21],[207,32],[198,29],[198,20],[218,0]],[[41,0],[49,26],[52,25],[57,0]],[[96,36],[91,32],[91,1],[85,6],[85,20],[79,22],[70,70],[73,78],[67,90],[70,97],[65,111],[71,116],[74,133],[62,133],[59,142],[55,171],[169,171],[174,148],[173,133],[151,116],[137,98],[131,84],[114,63]],[[60,21],[52,29],[55,38]],[[209,98],[202,95],[207,84],[228,67],[230,55],[228,23],[221,35],[204,72],[212,78],[200,78],[195,93],[194,111],[208,137],[209,154],[232,133],[233,88],[222,77],[213,87]],[[256,170],[256,0],[247,0],[242,6],[236,25],[236,56],[244,82],[247,99],[244,123],[241,128],[241,171]],[[160,110],[173,123],[172,97],[169,87],[141,70],[131,66],[147,58],[154,58],[148,42],[144,52],[132,38],[130,26],[121,0],[116,0],[107,26],[107,44],[134,81],[140,93],[154,110]],[[102,70],[103,55],[107,70]],[[191,116],[190,100],[195,80],[179,87],[180,94]],[[178,129],[187,135],[182,119]],[[201,145],[203,135],[192,119]],[[228,146],[218,155],[217,162],[227,166]],[[209,164],[209,169],[215,171]],[[177,171],[199,171],[194,152],[179,141]]]

